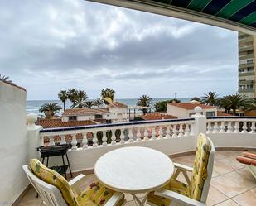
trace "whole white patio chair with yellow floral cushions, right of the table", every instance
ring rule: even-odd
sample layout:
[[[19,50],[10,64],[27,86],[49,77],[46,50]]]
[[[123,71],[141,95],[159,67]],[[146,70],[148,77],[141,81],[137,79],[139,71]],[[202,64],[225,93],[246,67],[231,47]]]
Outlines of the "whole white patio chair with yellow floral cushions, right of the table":
[[[210,180],[214,165],[215,147],[209,137],[200,134],[196,143],[196,157],[193,168],[176,164],[176,172],[171,181],[162,189],[152,192],[147,197],[147,204],[168,205],[206,205]],[[191,180],[187,175],[191,172]],[[186,184],[176,180],[182,173]]]

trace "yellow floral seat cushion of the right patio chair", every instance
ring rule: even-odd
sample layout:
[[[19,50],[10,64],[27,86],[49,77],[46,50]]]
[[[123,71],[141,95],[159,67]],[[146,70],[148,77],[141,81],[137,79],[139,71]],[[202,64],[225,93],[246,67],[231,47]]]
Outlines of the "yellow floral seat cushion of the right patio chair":
[[[188,196],[188,185],[180,182],[179,180],[171,179],[171,181],[164,187],[164,189]],[[147,201],[159,206],[168,206],[171,204],[171,199],[157,196],[154,194],[154,192],[148,194]]]

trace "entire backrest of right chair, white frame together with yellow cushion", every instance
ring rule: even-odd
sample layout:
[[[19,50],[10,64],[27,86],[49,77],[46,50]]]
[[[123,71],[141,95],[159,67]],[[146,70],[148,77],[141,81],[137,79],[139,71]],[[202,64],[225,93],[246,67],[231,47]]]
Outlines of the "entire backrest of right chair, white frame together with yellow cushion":
[[[214,165],[215,146],[209,137],[200,133],[196,143],[196,157],[193,166],[189,196],[206,202]]]

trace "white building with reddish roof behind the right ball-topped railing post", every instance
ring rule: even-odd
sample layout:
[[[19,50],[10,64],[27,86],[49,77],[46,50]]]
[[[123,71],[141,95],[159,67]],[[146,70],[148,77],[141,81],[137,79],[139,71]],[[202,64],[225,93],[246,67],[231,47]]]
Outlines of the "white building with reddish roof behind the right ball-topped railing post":
[[[167,114],[176,116],[178,118],[187,118],[195,114],[194,108],[200,106],[202,108],[202,114],[206,117],[216,117],[217,108],[214,106],[209,106],[205,104],[200,104],[199,102],[193,103],[167,103]]]

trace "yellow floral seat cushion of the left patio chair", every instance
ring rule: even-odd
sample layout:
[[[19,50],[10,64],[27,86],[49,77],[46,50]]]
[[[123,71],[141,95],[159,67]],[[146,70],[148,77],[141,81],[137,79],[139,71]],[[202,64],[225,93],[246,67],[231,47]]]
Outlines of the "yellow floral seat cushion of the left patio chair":
[[[99,181],[94,181],[77,197],[77,201],[81,206],[104,205],[115,193],[114,190],[104,187]],[[123,204],[121,199],[118,205]]]

